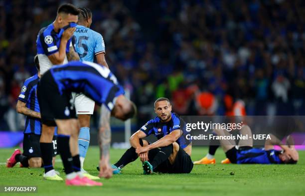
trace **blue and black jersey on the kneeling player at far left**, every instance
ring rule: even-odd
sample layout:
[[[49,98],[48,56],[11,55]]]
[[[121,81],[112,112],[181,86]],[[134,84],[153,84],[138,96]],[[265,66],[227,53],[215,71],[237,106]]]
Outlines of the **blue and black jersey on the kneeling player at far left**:
[[[27,108],[35,112],[40,112],[36,93],[38,80],[37,74],[26,79],[18,97],[18,100],[26,103]],[[41,134],[40,119],[26,116],[24,133]]]

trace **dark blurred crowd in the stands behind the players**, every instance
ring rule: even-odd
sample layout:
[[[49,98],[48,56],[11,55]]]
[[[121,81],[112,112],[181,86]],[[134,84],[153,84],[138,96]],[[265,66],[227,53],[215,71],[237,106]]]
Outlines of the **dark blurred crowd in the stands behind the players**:
[[[139,126],[158,97],[179,115],[225,115],[237,100],[247,115],[305,115],[304,0],[0,0],[0,130],[22,128],[36,37],[63,2],[92,10]]]

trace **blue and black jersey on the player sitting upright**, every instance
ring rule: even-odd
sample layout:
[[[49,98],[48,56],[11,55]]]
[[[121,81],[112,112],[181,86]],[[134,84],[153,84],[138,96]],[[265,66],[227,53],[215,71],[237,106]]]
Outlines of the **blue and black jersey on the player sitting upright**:
[[[190,139],[186,139],[186,134],[189,133],[186,131],[185,122],[175,113],[171,113],[171,120],[166,123],[161,122],[158,117],[155,117],[147,122],[140,130],[145,132],[147,136],[154,134],[157,139],[164,137],[171,131],[180,130],[183,134],[176,141],[179,146],[185,148],[191,142]]]

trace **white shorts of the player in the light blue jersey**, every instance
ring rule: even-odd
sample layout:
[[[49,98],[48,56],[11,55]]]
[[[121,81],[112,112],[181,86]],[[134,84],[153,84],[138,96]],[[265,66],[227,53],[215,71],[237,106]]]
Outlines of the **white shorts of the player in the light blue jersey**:
[[[83,93],[72,93],[76,114],[93,114],[95,102]]]

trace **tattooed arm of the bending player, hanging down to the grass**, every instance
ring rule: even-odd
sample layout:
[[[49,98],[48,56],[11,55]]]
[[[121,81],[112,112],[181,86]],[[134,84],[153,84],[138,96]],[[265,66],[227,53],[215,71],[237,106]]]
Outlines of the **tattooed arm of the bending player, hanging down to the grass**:
[[[112,168],[110,166],[110,111],[106,106],[101,107],[100,129],[99,129],[99,146],[100,146],[100,177],[111,178]]]

